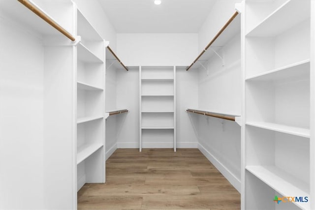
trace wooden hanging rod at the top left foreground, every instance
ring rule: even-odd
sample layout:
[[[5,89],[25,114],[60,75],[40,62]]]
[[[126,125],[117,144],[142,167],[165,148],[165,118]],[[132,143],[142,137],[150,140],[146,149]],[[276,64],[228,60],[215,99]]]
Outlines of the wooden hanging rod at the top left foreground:
[[[51,19],[48,15],[46,15],[43,11],[41,11],[39,8],[37,8],[35,5],[31,3],[29,0],[18,0],[20,3],[22,3],[24,6],[29,8],[33,13],[35,13],[37,16],[39,16],[41,19],[46,21],[49,25],[54,27],[55,29],[59,30],[63,35],[68,37],[71,41],[75,41],[75,38],[63,27],[61,27],[56,21]]]

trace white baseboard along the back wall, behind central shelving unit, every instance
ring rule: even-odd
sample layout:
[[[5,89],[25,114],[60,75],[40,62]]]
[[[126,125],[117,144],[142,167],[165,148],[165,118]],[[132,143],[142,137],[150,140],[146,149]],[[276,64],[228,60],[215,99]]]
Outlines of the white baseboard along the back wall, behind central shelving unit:
[[[118,142],[118,149],[138,149],[139,143]],[[142,148],[173,148],[172,142],[143,142]],[[197,142],[177,142],[177,148],[198,148]]]

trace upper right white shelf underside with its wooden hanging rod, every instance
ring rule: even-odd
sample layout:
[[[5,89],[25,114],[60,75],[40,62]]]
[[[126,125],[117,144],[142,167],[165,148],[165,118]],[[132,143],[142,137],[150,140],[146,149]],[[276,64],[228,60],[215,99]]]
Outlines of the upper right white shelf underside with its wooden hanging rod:
[[[237,32],[241,30],[241,17],[239,13],[235,11],[230,19],[223,25],[221,30],[213,37],[213,39],[208,43],[205,49],[197,56],[197,58],[189,65],[186,69],[188,71],[191,69],[198,69],[202,64],[200,61],[209,60],[215,52],[214,50],[209,50],[211,47],[222,47],[227,43]]]

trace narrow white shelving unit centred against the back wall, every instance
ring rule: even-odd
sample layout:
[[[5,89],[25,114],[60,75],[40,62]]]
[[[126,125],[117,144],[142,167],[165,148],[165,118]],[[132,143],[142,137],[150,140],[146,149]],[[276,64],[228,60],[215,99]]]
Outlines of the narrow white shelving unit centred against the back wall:
[[[140,143],[142,148],[176,151],[175,66],[140,66]]]

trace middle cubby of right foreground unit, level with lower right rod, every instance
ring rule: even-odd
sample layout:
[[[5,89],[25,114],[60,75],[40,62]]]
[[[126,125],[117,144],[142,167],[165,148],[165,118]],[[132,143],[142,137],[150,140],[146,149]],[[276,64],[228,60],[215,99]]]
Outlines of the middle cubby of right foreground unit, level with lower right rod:
[[[299,72],[298,77],[286,75],[283,79],[275,76],[274,80],[247,81],[246,121],[310,129],[309,68]]]

